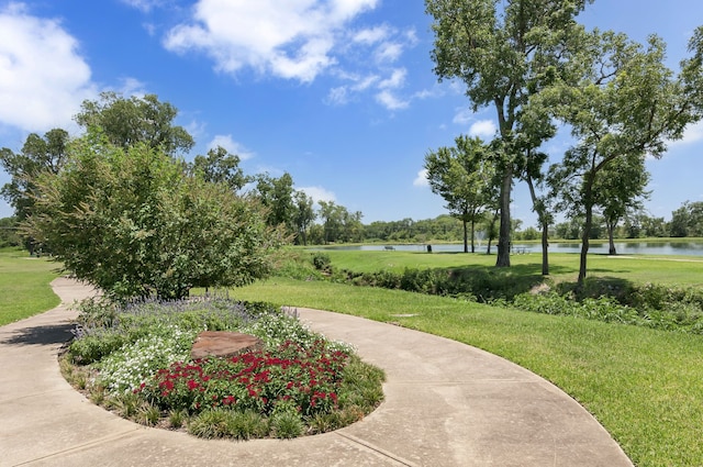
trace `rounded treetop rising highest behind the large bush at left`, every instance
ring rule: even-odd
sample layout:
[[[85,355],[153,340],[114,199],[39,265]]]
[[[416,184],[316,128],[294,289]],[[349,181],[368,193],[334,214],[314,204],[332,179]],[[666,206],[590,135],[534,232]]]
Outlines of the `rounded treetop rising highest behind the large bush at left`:
[[[76,122],[86,130],[104,134],[116,146],[127,148],[137,143],[159,147],[168,155],[185,154],[193,145],[192,136],[175,125],[178,110],[161,102],[155,94],[124,98],[116,92],[103,92],[99,100],[86,100]]]

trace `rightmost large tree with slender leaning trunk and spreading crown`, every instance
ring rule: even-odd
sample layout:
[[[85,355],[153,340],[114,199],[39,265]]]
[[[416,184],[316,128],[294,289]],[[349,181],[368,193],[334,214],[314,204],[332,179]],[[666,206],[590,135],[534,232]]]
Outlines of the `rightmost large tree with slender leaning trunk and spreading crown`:
[[[596,30],[583,45],[572,62],[579,82],[556,81],[540,93],[576,140],[551,179],[584,219],[579,285],[587,275],[593,208],[604,174],[614,164],[639,167],[646,155],[661,157],[667,141],[680,138],[702,116],[703,27],[690,42],[693,57],[682,60],[677,77],[663,63],[666,46],[657,36],[644,46]]]

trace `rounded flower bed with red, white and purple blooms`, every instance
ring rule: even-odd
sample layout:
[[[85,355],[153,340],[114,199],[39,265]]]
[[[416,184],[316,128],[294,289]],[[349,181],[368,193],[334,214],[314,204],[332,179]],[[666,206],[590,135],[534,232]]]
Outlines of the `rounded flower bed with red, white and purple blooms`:
[[[228,300],[90,301],[62,368],[107,409],[204,437],[294,437],[360,420],[383,398],[383,373],[294,314]],[[253,334],[265,348],[191,360],[204,330]]]

